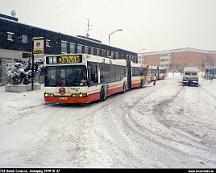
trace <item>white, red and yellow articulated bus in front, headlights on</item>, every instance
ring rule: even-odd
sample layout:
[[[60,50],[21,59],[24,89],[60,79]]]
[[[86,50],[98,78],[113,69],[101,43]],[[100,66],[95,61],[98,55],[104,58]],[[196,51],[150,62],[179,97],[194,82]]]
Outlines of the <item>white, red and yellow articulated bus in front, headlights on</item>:
[[[125,59],[88,54],[45,57],[45,102],[90,103],[144,87],[147,68]]]

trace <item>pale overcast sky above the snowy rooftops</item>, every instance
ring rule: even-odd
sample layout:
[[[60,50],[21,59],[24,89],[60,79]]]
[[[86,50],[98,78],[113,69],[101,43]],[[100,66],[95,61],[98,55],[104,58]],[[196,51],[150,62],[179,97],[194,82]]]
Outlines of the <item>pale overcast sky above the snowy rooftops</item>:
[[[138,52],[192,47],[216,50],[216,0],[0,0],[0,13],[21,23],[85,35]]]

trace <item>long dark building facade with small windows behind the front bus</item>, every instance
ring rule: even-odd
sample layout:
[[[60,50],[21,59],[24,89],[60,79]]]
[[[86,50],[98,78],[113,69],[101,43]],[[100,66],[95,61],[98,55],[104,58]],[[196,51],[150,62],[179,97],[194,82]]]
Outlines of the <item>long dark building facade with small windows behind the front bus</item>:
[[[86,53],[138,62],[135,52],[108,46],[99,40],[84,36],[70,36],[22,24],[18,22],[18,18],[0,14],[0,85],[7,82],[5,64],[14,59],[31,58],[34,37],[45,38],[47,55]]]

